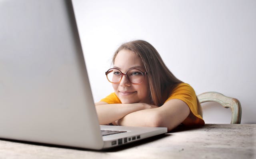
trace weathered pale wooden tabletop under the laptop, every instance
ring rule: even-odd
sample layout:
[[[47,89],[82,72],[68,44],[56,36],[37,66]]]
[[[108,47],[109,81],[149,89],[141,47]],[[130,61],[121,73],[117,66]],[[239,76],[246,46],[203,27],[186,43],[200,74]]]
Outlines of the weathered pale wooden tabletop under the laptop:
[[[179,127],[164,135],[105,151],[0,140],[0,159],[2,158],[255,159],[256,124],[206,124],[199,128]]]

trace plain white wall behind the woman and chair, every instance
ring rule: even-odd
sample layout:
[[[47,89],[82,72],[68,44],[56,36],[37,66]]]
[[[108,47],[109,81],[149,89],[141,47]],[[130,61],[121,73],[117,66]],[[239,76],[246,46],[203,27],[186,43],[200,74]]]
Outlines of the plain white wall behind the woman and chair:
[[[73,0],[94,100],[112,92],[104,72],[123,42],[142,39],[197,94],[236,97],[242,122],[256,123],[255,0]],[[230,110],[206,105],[206,123]],[[220,113],[222,112],[222,113]]]

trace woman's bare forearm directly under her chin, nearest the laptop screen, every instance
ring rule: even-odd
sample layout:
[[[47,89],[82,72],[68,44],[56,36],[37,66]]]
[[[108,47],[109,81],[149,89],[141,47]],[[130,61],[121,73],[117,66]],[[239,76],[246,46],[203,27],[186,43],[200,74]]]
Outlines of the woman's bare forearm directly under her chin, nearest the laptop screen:
[[[154,107],[146,103],[108,104],[103,101],[95,103],[95,106],[100,125],[112,123],[129,113]]]

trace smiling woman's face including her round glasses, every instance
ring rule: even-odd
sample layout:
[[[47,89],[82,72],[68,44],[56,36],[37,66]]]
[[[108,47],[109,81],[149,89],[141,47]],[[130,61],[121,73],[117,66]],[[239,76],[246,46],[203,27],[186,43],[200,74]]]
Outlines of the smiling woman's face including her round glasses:
[[[120,50],[108,70],[108,79],[122,103],[150,103],[146,70],[140,57],[130,50]]]

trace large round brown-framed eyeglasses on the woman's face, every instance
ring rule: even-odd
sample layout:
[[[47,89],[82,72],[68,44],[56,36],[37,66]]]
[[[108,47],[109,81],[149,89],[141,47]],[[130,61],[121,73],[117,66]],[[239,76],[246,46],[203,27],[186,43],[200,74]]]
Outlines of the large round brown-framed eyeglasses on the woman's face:
[[[147,72],[142,72],[139,69],[132,68],[124,74],[117,68],[110,68],[107,72],[105,72],[105,74],[108,81],[111,83],[120,83],[123,76],[126,76],[131,83],[140,84],[144,81],[144,76],[147,74]]]

